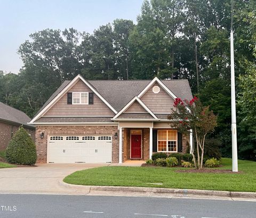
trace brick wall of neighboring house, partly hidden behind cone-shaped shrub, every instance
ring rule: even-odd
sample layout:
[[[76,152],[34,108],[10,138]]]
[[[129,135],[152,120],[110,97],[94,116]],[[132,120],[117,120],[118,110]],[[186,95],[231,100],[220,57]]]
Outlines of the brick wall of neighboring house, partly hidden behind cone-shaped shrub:
[[[0,122],[0,150],[5,150],[7,148],[7,145],[12,138],[12,127],[14,135],[15,132],[19,130],[19,126]],[[35,130],[29,128],[25,128],[25,130],[35,142]]]

